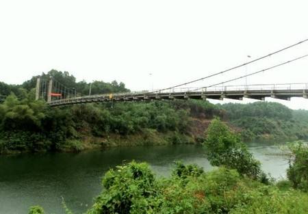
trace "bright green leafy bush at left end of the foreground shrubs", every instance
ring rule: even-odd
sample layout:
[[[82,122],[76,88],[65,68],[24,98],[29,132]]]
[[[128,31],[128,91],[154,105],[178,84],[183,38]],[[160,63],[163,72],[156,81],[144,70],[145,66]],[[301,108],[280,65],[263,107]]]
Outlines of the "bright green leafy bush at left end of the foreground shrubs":
[[[154,181],[147,163],[132,161],[118,166],[116,171],[109,170],[103,178],[105,189],[88,213],[146,213],[153,206]]]

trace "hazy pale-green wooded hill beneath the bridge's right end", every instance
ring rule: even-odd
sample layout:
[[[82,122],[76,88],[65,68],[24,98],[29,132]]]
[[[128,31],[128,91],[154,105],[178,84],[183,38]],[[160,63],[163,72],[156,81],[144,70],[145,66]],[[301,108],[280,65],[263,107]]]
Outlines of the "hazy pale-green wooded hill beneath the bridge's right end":
[[[308,111],[291,110],[279,103],[222,105],[227,119],[242,129],[245,139],[307,139]]]

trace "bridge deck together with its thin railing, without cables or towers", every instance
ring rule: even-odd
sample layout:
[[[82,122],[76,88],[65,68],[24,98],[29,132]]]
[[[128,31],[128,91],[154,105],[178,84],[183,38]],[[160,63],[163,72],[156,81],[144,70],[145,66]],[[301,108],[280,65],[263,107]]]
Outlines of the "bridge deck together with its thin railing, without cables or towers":
[[[288,84],[262,84],[262,85],[226,85],[207,88],[169,88],[165,90],[153,90],[142,92],[128,92],[119,94],[101,94],[92,96],[80,96],[59,99],[47,103],[51,107],[62,105],[75,105],[79,103],[103,103],[118,101],[151,101],[151,100],[175,100],[198,99],[206,100],[231,98],[253,98],[264,101],[266,97],[290,100],[291,97],[308,98],[308,83]]]

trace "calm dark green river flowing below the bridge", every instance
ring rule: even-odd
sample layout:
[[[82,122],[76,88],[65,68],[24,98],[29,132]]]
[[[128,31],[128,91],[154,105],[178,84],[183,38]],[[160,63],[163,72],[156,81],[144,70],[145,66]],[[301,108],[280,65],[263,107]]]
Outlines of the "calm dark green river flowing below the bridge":
[[[261,146],[260,146],[261,145]],[[288,163],[272,144],[249,144],[264,172],[285,178]],[[131,160],[146,161],[157,176],[170,176],[172,162],[197,163],[213,170],[201,146],[138,146],[79,153],[21,154],[0,156],[0,213],[27,213],[40,205],[48,214],[65,213],[62,198],[75,214],[92,206],[101,190],[103,174]]]

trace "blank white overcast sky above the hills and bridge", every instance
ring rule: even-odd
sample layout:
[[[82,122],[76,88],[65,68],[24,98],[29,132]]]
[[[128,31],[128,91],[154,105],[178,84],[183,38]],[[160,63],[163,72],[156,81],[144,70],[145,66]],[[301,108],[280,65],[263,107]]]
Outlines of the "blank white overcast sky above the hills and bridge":
[[[77,81],[169,88],[308,38],[307,1],[0,1],[0,81],[51,69]],[[214,78],[208,86],[308,54],[308,42]],[[247,55],[251,55],[248,58]],[[308,57],[225,85],[307,83]],[[150,75],[151,74],[151,75]],[[283,104],[308,109],[303,98]]]

